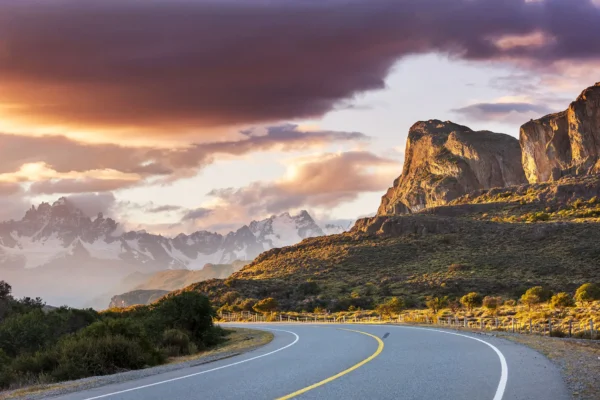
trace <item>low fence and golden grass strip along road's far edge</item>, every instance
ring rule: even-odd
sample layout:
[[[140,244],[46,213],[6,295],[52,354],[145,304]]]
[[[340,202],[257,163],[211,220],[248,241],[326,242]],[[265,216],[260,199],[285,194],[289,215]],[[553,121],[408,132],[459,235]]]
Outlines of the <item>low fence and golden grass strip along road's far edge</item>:
[[[548,318],[533,320],[513,317],[465,317],[444,316],[430,317],[426,315],[401,314],[390,316],[346,316],[336,314],[290,314],[271,312],[258,314],[253,312],[221,313],[223,322],[286,322],[310,324],[372,324],[372,323],[404,323],[417,325],[437,325],[448,328],[466,328],[481,331],[504,331],[520,334],[578,337],[582,339],[600,340],[600,332],[594,326],[594,320],[575,320]]]

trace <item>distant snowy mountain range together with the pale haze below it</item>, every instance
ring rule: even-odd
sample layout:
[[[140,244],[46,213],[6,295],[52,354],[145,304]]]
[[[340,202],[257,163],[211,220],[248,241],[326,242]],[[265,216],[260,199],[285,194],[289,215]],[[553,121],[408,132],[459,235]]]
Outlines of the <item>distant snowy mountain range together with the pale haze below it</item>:
[[[201,270],[208,263],[251,261],[265,250],[345,228],[321,228],[302,211],[253,221],[226,235],[198,231],[168,238],[120,232],[113,219],[102,214],[90,218],[60,198],[32,206],[19,221],[0,223],[0,270],[18,296],[42,296],[54,305],[86,305],[136,272]]]

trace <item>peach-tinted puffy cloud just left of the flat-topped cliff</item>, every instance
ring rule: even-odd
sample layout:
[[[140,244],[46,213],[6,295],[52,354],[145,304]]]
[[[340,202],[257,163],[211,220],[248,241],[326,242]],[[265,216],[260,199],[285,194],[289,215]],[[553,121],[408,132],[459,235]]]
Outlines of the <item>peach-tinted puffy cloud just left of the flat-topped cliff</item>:
[[[381,192],[397,177],[396,160],[366,151],[325,154],[292,164],[286,178],[255,182],[242,188],[212,190],[214,216],[227,221],[230,215],[246,219],[298,208],[332,208],[354,200],[361,193]]]

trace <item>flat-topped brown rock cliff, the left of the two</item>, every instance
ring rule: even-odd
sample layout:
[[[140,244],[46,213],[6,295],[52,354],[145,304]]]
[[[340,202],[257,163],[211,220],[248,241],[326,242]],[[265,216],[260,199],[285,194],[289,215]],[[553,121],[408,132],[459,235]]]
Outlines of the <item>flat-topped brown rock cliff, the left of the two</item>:
[[[405,154],[402,175],[377,215],[410,214],[474,190],[526,183],[519,141],[502,133],[421,121],[410,128]]]

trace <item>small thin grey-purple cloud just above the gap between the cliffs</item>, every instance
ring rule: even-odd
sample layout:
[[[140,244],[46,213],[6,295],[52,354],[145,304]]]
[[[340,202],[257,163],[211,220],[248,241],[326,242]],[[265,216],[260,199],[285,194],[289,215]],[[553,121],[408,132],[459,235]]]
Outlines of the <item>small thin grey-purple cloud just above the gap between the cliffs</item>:
[[[539,118],[555,110],[541,104],[507,102],[476,103],[452,110],[473,121],[505,121],[523,123],[531,118]]]

